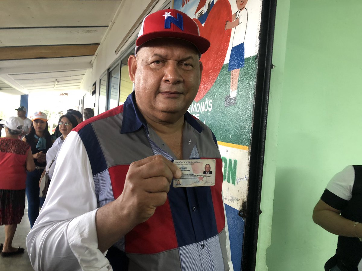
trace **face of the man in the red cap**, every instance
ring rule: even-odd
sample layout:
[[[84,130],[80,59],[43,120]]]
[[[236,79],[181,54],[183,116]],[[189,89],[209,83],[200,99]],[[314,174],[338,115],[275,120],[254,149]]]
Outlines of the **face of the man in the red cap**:
[[[180,118],[194,100],[201,81],[202,64],[196,48],[180,39],[151,40],[130,56],[129,73],[136,103],[156,121]]]

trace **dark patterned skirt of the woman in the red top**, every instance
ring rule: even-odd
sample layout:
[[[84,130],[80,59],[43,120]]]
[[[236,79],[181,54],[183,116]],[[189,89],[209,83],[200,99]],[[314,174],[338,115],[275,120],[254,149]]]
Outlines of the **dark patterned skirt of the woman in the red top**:
[[[0,189],[0,225],[19,224],[24,216],[25,189]]]

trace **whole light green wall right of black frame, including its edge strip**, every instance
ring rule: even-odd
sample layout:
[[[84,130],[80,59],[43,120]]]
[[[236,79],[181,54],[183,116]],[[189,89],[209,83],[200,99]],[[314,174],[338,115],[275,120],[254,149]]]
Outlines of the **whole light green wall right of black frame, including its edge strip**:
[[[313,207],[336,172],[362,164],[362,2],[277,10],[256,270],[318,271],[337,236],[313,223]]]

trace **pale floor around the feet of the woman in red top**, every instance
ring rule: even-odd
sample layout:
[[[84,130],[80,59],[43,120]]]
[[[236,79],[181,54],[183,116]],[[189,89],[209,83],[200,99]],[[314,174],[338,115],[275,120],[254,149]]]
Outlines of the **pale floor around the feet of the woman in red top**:
[[[25,239],[26,235],[30,231],[30,224],[28,219],[28,202],[25,203],[25,212],[24,217],[21,220],[21,223],[18,225],[14,240],[13,246],[17,248],[20,246],[21,248],[25,248],[24,254],[15,255],[12,257],[0,257],[0,270],[1,271],[31,271],[33,267],[31,267],[28,251],[26,251]],[[0,243],[4,243],[5,233],[4,226],[0,226]]]

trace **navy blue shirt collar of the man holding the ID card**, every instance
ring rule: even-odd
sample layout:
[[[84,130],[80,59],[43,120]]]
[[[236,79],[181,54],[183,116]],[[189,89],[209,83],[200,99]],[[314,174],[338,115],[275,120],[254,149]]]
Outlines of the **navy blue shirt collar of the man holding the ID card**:
[[[188,111],[186,111],[184,118],[185,121],[188,122],[188,124],[190,124],[195,130],[197,130],[197,132],[202,132],[202,126],[194,119],[194,117]],[[147,128],[147,122],[136,105],[135,92],[132,91],[132,93],[128,95],[125,103],[123,104],[123,121],[121,134],[135,132],[142,126],[147,130],[147,133],[149,133]]]

